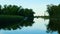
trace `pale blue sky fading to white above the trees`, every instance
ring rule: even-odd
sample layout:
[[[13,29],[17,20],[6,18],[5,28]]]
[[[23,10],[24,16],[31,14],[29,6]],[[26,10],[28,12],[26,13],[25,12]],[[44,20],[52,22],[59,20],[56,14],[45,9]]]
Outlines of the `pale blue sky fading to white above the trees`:
[[[47,12],[47,5],[54,4],[58,5],[60,0],[0,0],[1,5],[18,5],[23,8],[33,9],[34,15],[44,15]]]

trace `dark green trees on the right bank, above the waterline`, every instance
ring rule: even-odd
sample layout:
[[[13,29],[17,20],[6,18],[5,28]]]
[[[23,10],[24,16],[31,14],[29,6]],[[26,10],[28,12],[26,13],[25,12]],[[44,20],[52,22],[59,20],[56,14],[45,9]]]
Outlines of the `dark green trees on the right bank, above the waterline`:
[[[47,12],[49,13],[50,17],[60,17],[60,5],[48,5]]]

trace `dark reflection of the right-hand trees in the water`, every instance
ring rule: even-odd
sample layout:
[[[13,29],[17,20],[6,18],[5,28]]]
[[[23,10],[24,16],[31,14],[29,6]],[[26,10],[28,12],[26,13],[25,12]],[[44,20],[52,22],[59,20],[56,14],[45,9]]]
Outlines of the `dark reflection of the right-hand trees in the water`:
[[[48,32],[58,31],[60,34],[60,19],[50,18],[47,29]]]

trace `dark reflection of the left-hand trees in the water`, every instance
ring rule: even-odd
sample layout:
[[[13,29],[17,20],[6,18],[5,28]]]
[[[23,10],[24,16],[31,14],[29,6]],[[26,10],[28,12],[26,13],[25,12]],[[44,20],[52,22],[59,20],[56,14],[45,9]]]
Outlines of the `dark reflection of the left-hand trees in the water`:
[[[16,29],[21,29],[23,26],[32,26],[34,23],[33,17],[28,17],[27,19],[25,17],[20,17],[20,18],[15,18],[15,17],[10,17],[10,18],[0,18],[0,29],[4,30],[16,30]]]

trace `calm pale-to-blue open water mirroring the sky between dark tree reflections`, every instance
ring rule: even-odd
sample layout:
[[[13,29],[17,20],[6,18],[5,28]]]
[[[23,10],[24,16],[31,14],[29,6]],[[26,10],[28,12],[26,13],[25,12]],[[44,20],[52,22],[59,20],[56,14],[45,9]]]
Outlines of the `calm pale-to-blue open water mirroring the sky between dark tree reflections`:
[[[34,18],[34,21],[35,23],[32,26],[17,30],[0,30],[0,34],[51,34],[46,33],[46,25],[49,23],[49,19]],[[53,32],[52,34],[57,34],[57,32]]]

